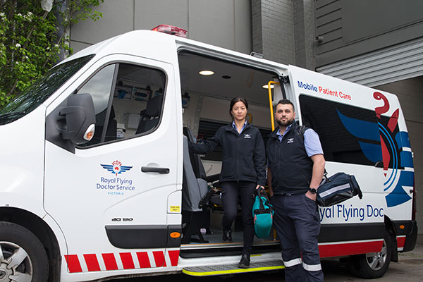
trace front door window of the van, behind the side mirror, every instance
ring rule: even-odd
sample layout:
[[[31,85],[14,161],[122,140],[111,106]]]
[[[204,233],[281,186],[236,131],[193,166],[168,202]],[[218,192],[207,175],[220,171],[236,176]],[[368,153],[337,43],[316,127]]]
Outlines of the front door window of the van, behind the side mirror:
[[[97,72],[78,93],[90,93],[95,133],[80,147],[152,132],[159,125],[166,76],[163,71],[115,63]]]

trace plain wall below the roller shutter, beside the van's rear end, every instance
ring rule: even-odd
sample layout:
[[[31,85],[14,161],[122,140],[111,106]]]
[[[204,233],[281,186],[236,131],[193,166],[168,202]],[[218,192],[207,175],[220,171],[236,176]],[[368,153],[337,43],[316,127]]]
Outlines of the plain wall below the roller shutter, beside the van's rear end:
[[[417,226],[419,233],[423,233],[423,146],[421,143],[423,140],[423,77],[400,80],[375,88],[396,94],[404,111],[411,149],[414,154]]]

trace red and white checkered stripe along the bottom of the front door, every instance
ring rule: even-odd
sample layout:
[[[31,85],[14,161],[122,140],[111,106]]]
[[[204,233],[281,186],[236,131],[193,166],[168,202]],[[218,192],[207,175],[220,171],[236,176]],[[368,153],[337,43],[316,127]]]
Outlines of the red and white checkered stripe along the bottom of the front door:
[[[118,252],[101,254],[65,255],[70,273],[109,271],[123,269],[145,269],[167,267],[165,255],[171,266],[178,265],[179,250],[149,252]],[[150,259],[152,257],[153,259]]]

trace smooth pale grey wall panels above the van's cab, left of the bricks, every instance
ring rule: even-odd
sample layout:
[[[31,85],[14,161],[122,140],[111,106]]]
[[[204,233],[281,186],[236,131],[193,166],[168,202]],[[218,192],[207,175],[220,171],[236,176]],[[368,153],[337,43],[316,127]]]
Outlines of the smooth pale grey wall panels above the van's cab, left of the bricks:
[[[96,9],[103,13],[102,18],[71,27],[74,51],[160,24],[182,27],[188,30],[188,38],[200,42],[245,54],[252,51],[250,0],[105,0]]]

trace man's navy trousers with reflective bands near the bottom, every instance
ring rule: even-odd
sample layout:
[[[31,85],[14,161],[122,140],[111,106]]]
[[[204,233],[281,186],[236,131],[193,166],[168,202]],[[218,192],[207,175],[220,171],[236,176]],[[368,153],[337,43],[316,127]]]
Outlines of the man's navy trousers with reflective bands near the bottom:
[[[317,245],[320,232],[317,203],[305,194],[286,194],[274,195],[271,204],[286,281],[323,281]]]

